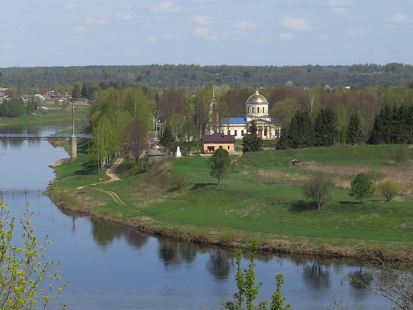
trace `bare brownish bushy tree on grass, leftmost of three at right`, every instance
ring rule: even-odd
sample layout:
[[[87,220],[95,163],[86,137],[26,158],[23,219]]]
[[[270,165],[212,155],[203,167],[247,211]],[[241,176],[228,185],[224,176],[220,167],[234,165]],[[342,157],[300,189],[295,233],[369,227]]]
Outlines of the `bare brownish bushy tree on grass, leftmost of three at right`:
[[[312,176],[303,187],[304,196],[310,198],[320,209],[331,198],[329,188],[331,182],[321,173]]]

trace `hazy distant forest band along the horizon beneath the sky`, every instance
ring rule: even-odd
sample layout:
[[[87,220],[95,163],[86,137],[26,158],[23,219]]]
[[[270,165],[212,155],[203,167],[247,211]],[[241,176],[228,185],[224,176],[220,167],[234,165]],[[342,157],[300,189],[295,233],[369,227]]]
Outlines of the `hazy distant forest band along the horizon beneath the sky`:
[[[206,84],[230,87],[268,87],[295,85],[341,88],[344,86],[409,86],[413,66],[354,64],[351,66],[79,66],[0,68],[0,87],[21,90],[52,89],[76,81],[120,83],[155,88],[194,88]]]

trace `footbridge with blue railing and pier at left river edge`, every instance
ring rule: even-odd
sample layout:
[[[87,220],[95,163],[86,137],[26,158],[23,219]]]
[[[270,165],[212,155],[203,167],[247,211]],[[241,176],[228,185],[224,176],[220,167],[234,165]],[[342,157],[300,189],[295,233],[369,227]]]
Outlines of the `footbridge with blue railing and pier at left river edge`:
[[[92,138],[92,135],[88,134],[50,134],[50,135],[38,135],[38,134],[0,134],[0,140],[66,140],[70,141],[71,145],[71,158],[77,157],[77,138]]]

